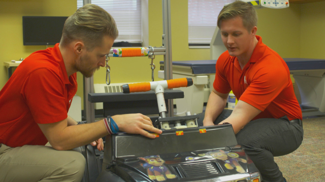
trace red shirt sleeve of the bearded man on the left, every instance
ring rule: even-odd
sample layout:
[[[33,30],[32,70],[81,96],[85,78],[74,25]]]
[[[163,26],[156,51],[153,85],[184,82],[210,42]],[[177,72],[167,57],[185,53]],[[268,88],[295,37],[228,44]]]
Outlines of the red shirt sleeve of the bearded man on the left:
[[[47,68],[31,72],[26,78],[21,94],[36,123],[54,123],[66,119],[66,85],[60,76]]]

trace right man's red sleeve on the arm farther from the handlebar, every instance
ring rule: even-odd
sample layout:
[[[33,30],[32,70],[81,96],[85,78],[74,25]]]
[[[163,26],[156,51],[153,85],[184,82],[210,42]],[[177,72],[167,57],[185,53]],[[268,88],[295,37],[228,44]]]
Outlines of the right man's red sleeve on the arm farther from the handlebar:
[[[289,76],[279,64],[266,65],[255,75],[239,100],[264,111],[287,86]]]

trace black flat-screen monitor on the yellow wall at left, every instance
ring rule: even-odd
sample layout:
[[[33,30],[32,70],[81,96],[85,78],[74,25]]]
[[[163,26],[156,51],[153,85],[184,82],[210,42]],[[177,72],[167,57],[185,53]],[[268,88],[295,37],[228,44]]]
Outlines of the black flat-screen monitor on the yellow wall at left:
[[[64,22],[68,17],[23,16],[24,45],[54,45],[60,42]]]

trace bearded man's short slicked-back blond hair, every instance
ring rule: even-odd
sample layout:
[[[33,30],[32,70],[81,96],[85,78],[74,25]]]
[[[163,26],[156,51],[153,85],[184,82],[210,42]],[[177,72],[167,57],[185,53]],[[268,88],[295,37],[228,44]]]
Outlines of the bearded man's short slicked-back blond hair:
[[[66,47],[73,40],[81,39],[87,50],[92,51],[95,47],[102,45],[104,35],[114,40],[118,36],[113,17],[103,8],[87,4],[66,20],[60,44]]]

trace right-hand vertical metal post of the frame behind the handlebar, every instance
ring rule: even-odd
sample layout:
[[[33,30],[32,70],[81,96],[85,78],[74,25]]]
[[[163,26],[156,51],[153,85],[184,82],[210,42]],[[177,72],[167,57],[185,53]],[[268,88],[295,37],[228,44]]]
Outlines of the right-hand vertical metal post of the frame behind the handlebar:
[[[171,1],[163,0],[163,47],[166,48],[164,55],[164,76],[165,79],[173,79],[172,65],[172,32],[171,32]],[[168,117],[174,115],[174,103],[172,99],[168,100]]]

